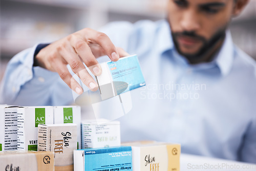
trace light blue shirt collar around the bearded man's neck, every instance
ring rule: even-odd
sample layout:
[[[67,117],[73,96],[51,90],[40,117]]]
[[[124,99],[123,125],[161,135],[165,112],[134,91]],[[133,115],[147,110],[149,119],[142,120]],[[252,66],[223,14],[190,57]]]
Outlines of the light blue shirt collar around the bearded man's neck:
[[[172,34],[170,31],[169,24],[166,20],[162,22],[162,27],[159,29],[159,49],[163,54],[169,50],[175,50]],[[220,51],[217,53],[215,59],[208,63],[202,63],[197,65],[202,66],[201,69],[207,69],[212,65],[217,65],[223,76],[227,75],[232,67],[233,62],[233,42],[231,33],[229,30],[226,31],[226,37]],[[180,57],[183,57],[179,55]],[[186,59],[184,59],[186,61]],[[207,66],[205,66],[207,65]],[[210,65],[210,66],[208,66]],[[211,67],[210,67],[211,68]]]

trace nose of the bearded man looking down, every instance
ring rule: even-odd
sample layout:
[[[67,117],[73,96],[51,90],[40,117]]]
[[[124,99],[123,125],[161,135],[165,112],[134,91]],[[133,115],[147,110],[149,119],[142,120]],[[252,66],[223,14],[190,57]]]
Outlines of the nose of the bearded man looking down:
[[[200,28],[200,19],[196,12],[187,10],[183,13],[181,27],[184,31],[197,31]]]

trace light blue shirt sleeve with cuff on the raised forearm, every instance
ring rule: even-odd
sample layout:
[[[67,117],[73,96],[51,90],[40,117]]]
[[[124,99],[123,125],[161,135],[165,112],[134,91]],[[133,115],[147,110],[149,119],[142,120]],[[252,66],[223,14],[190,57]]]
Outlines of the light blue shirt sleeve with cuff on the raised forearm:
[[[0,103],[9,105],[52,105],[60,92],[53,92],[59,84],[57,73],[33,67],[36,45],[15,55],[8,63],[0,87]],[[59,91],[67,87],[60,86]],[[67,102],[63,99],[63,103]]]

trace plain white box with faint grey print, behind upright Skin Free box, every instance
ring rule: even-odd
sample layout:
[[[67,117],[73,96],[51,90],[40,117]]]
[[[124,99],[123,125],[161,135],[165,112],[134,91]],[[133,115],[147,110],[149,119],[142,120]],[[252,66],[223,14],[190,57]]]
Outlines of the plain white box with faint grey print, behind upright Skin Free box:
[[[82,121],[82,148],[120,146],[120,122],[105,119]]]

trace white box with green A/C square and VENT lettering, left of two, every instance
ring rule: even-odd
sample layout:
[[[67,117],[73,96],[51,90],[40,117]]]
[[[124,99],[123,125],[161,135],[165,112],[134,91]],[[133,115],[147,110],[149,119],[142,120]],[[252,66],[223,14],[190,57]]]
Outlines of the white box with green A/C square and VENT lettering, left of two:
[[[52,106],[27,106],[17,109],[18,135],[17,149],[37,151],[38,124],[53,123]]]

